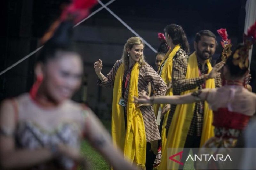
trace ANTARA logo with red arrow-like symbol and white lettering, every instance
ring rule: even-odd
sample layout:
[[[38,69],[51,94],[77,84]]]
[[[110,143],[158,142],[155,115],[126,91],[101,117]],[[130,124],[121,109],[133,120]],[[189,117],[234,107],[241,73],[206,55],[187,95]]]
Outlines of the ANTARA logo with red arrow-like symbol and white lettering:
[[[172,156],[170,156],[169,157],[169,159],[170,160],[172,160],[172,161],[174,161],[174,162],[176,162],[176,163],[178,163],[178,164],[180,164],[180,165],[184,165],[184,163],[183,162],[180,162],[181,161],[181,158],[182,158],[182,153],[183,153],[183,151],[181,151],[181,152],[178,152],[178,153],[176,153],[176,154],[174,154],[174,155],[172,155]],[[179,160],[177,160],[177,159],[174,159],[174,157],[176,157],[176,156],[179,156]],[[227,156],[225,157],[225,159],[223,159],[224,158],[224,155],[223,154],[200,154],[200,155],[197,155],[197,154],[195,154],[194,155],[194,157],[192,157],[192,155],[191,154],[189,154],[188,155],[188,157],[187,157],[187,159],[186,159],[186,161],[188,161],[188,159],[191,159],[192,161],[210,161],[210,160],[214,160],[214,161],[226,161],[227,159],[229,159],[230,161],[232,161],[231,160],[231,158],[230,158],[230,156],[227,154]]]

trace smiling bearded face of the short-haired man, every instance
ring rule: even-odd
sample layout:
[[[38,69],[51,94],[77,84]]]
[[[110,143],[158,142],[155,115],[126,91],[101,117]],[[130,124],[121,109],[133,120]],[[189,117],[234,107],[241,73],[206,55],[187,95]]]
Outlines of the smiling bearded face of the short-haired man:
[[[200,59],[207,60],[215,53],[216,40],[213,37],[203,35],[198,43],[194,42],[194,48]]]

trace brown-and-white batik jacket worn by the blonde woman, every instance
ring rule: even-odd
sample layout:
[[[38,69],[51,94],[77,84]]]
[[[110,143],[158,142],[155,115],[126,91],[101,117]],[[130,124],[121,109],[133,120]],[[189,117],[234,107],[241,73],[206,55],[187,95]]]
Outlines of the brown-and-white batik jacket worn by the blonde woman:
[[[122,60],[117,60],[113,68],[108,73],[108,75],[105,76],[102,81],[98,79],[97,85],[101,85],[107,88],[113,87],[115,82],[116,72],[119,66],[121,65],[121,63],[122,63]],[[130,70],[127,70],[127,71],[130,71]],[[124,75],[127,75],[127,73],[125,72]],[[164,96],[167,90],[167,85],[164,83],[163,79],[156,73],[156,71],[148,63],[144,63],[140,67],[140,72],[139,72],[139,80],[138,80],[139,97],[142,96],[143,91],[147,92],[148,94],[149,82],[151,83],[152,86],[154,86],[154,89],[155,89],[154,96]],[[130,80],[128,79],[127,88],[125,88],[125,91],[123,93],[124,94],[123,97],[125,101],[124,102],[125,115],[127,114],[126,104],[127,104],[128,95],[129,95],[129,85],[130,85]],[[153,107],[151,105],[142,106],[140,107],[140,111],[143,116],[147,142],[160,139],[160,133],[156,123],[156,116],[154,114]]]

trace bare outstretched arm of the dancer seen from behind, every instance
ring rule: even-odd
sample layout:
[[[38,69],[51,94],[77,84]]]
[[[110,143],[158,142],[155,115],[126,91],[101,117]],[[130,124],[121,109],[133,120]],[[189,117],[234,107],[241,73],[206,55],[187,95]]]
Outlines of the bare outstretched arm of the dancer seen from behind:
[[[207,99],[207,95],[210,89],[197,90],[185,95],[173,95],[173,96],[159,96],[148,97],[145,93],[141,98],[134,97],[135,103],[157,103],[157,104],[186,104],[197,101],[204,101]]]

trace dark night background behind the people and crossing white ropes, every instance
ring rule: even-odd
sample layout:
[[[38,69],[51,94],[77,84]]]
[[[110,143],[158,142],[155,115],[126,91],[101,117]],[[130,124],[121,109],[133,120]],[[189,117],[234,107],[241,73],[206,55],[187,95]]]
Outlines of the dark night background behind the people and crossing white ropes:
[[[59,16],[60,6],[67,0],[4,0],[1,6],[0,71],[39,47],[39,39]],[[102,1],[104,4],[108,0]],[[242,42],[246,0],[116,0],[108,7],[140,34],[155,49],[157,33],[166,25],[175,23],[187,33],[191,52],[196,32],[209,29],[218,37],[217,29],[226,28],[236,45]],[[96,5],[92,11],[100,8]],[[111,113],[112,89],[96,85],[93,63],[103,61],[103,74],[107,74],[121,57],[123,46],[134,36],[105,9],[75,28],[77,51],[84,58],[84,83],[74,100],[87,103],[101,118]],[[221,46],[213,56],[220,55]],[[145,56],[155,69],[155,53],[148,47]],[[34,81],[36,55],[0,76],[0,100],[28,92]],[[252,88],[255,87],[255,50],[252,55]]]

